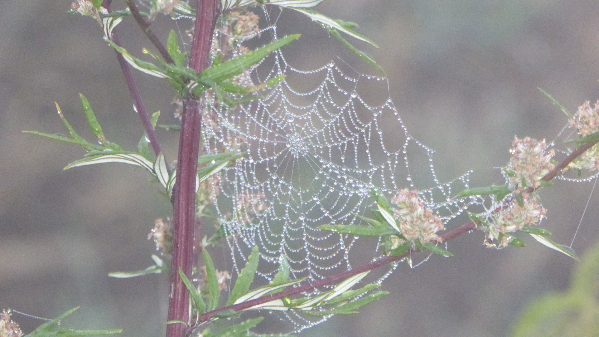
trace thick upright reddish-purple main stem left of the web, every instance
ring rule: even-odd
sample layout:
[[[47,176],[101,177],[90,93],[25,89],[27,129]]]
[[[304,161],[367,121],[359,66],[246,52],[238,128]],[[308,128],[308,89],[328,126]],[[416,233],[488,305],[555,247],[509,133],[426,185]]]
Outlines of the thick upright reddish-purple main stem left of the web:
[[[210,62],[210,47],[216,19],[220,14],[219,0],[198,0],[189,67],[196,72]],[[198,172],[199,142],[201,139],[204,101],[184,97],[181,115],[177,180],[174,188],[173,259],[171,262],[171,296],[168,302],[168,321],[189,320],[189,292],[179,276],[183,270],[191,278],[193,266],[193,237],[199,236],[195,224],[195,181]],[[195,232],[194,233],[194,228]],[[183,337],[183,324],[168,324],[167,337]]]

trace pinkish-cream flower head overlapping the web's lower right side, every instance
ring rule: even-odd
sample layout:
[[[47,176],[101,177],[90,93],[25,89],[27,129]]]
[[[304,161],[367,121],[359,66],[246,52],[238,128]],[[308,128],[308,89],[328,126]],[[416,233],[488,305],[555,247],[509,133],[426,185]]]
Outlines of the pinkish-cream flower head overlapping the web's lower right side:
[[[418,191],[404,188],[394,195],[391,202],[400,206],[400,209],[395,210],[395,216],[399,220],[401,234],[406,239],[411,242],[420,239],[422,243],[431,240],[441,241],[441,237],[435,233],[444,229],[443,222],[429,207],[426,207]]]

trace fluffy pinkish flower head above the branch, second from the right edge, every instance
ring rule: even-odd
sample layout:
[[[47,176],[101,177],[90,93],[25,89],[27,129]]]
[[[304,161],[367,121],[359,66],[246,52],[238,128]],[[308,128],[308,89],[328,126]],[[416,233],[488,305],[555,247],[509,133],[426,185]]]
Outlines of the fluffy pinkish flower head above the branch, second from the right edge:
[[[510,188],[520,191],[527,187],[539,187],[541,178],[555,167],[551,162],[555,151],[546,151],[547,144],[544,139],[539,142],[530,137],[514,137],[512,145],[512,158],[504,167],[508,172]]]

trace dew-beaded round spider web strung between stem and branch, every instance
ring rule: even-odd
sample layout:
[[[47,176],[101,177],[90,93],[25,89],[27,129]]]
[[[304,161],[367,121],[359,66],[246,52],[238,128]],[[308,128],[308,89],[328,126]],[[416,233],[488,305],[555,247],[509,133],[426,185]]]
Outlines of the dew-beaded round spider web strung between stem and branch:
[[[267,10],[262,17],[267,26],[228,50],[223,51],[223,44],[231,40],[230,29],[217,28],[214,54],[231,53],[231,48],[238,53],[252,39],[261,45],[277,38],[277,24],[283,25],[277,21],[280,12],[273,16]],[[356,215],[371,216],[373,187],[388,197],[403,188],[419,189],[444,223],[474,202],[452,198],[468,187],[469,173],[450,182],[437,179],[434,151],[410,136],[389,97],[385,77],[374,74],[376,70],[360,73],[336,53],[329,62],[300,69],[286,58],[292,50],[290,46],[272,53],[235,79],[258,85],[287,76],[262,91],[259,100],[226,109],[207,94],[205,153],[247,152],[215,177],[211,187],[218,193],[216,209],[226,227],[235,272],[255,245],[261,257],[258,275],[265,280],[274,277],[282,258],[289,262],[291,278],[314,280],[351,269],[350,251],[356,245],[369,252],[362,263],[380,257],[380,240],[365,238],[362,245],[356,236],[318,228],[365,224]],[[372,103],[376,100],[370,96],[378,102]],[[322,290],[326,289],[304,295]],[[295,332],[329,317],[304,317],[294,311],[280,315],[294,324]]]

